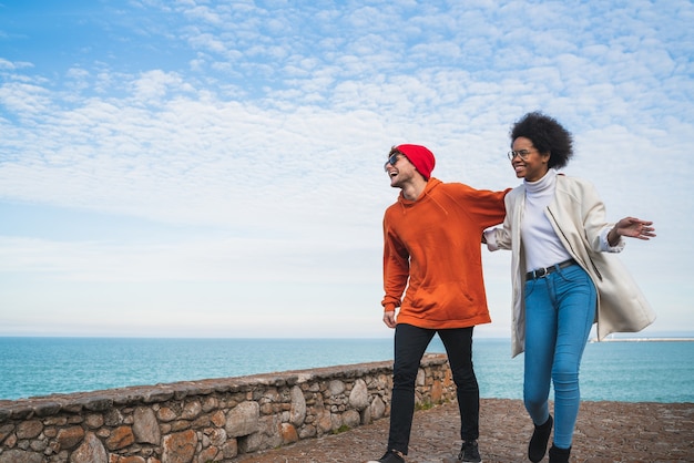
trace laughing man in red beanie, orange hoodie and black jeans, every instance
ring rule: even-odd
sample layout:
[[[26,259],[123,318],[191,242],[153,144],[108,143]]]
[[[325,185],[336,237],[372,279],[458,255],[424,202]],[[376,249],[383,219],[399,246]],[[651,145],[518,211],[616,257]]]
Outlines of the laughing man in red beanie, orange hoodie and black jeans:
[[[420,145],[394,146],[385,168],[400,188],[384,217],[384,322],[395,328],[388,449],[371,462],[402,463],[415,412],[419,362],[438,333],[457,387],[462,447],[458,461],[481,461],[479,389],[472,329],[489,323],[482,232],[503,222],[508,191],[474,189],[431,177],[436,160]],[[396,315],[396,309],[399,311]]]

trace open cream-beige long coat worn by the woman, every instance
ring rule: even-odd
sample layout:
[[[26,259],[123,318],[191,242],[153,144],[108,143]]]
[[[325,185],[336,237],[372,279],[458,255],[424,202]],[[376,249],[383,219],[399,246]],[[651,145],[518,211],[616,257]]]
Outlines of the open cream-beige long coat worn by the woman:
[[[525,187],[520,185],[506,196],[503,226],[488,235],[490,250],[511,249],[513,317],[511,351],[516,357],[525,346],[525,265],[520,225],[525,208]],[[613,332],[641,331],[655,320],[647,300],[613,253],[601,251],[601,232],[613,224],[605,222],[604,204],[589,182],[557,176],[554,199],[547,207],[557,236],[569,254],[590,275],[598,288],[598,339]]]

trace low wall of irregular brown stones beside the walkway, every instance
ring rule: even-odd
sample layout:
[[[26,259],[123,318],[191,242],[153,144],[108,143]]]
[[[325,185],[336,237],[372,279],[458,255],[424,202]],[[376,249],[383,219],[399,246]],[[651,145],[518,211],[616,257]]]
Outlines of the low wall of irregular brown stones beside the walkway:
[[[0,463],[207,463],[390,414],[391,362],[0,401]],[[417,403],[455,401],[427,354]]]

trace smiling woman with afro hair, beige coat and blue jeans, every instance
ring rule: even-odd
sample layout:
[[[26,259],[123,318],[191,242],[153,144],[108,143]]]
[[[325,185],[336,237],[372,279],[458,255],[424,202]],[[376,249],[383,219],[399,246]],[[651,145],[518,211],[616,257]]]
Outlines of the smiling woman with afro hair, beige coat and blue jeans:
[[[512,354],[524,351],[523,402],[534,432],[528,457],[568,462],[579,413],[579,368],[591,328],[599,339],[649,326],[653,311],[614,253],[622,237],[650,239],[653,223],[605,220],[594,187],[558,172],[573,155],[572,135],[554,119],[525,114],[510,131],[509,160],[523,183],[506,196],[502,227],[487,230],[490,250],[510,249]],[[549,393],[554,387],[554,419]]]

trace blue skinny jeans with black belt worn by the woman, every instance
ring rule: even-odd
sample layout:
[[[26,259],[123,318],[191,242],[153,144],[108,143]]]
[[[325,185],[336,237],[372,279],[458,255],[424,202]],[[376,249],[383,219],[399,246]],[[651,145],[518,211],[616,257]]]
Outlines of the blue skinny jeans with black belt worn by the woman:
[[[598,296],[580,266],[525,281],[525,367],[523,400],[534,424],[549,419],[554,383],[554,444],[571,446],[581,392],[579,368]]]

